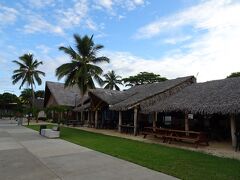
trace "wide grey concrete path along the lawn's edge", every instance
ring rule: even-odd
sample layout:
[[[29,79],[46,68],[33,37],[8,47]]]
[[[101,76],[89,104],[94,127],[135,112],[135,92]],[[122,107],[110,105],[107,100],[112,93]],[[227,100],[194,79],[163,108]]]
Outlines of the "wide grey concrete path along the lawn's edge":
[[[175,179],[136,164],[0,120],[0,179]]]

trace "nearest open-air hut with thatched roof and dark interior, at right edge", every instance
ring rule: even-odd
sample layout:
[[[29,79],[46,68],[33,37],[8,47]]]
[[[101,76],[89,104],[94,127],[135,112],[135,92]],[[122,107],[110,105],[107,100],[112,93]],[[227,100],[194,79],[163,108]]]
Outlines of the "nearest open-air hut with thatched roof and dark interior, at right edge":
[[[227,132],[235,146],[234,133],[240,128],[236,121],[240,113],[240,78],[192,84],[153,106],[144,106],[142,112],[180,112],[185,117],[185,130],[202,128],[200,130],[207,131],[210,128],[209,133]]]

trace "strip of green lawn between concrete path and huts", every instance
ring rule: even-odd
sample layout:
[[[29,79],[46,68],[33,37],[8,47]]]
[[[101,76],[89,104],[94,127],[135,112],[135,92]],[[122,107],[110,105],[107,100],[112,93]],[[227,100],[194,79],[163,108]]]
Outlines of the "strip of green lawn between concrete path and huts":
[[[38,125],[29,126],[38,130]],[[61,127],[61,139],[181,179],[240,179],[240,161]]]

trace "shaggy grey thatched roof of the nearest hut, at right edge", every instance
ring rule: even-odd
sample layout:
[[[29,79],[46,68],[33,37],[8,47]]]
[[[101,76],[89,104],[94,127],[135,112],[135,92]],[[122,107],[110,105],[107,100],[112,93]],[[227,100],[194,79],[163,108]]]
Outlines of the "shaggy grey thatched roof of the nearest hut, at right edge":
[[[183,111],[202,114],[240,113],[240,78],[196,83],[154,106],[144,113]]]

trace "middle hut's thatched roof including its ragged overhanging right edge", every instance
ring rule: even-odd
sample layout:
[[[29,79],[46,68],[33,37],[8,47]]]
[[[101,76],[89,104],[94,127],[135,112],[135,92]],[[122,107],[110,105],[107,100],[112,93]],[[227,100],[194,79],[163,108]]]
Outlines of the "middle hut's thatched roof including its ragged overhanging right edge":
[[[162,94],[164,96],[171,95],[172,93],[179,91],[181,88],[184,88],[185,86],[195,82],[196,79],[194,76],[187,76],[158,83],[135,86],[123,92],[122,96],[124,97],[125,95],[128,97],[123,98],[124,100],[112,105],[110,109],[116,111],[125,111],[140,104],[154,104],[158,98],[162,98]],[[173,88],[175,89],[173,92],[166,93],[170,92],[170,90]]]

